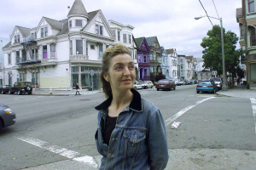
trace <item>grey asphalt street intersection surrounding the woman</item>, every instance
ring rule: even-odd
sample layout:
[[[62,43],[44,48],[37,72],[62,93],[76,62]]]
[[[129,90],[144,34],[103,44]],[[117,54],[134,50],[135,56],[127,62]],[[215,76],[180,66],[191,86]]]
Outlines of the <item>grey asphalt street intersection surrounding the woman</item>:
[[[250,99],[196,94],[195,85],[138,92],[160,108],[166,121],[166,169],[256,169]],[[94,140],[94,107],[103,100],[102,93],[0,95],[0,103],[17,116],[15,125],[0,132],[0,169],[96,169],[101,156]],[[173,121],[180,127],[172,129]],[[89,160],[81,161],[85,156]]]

